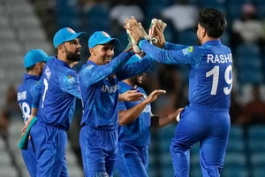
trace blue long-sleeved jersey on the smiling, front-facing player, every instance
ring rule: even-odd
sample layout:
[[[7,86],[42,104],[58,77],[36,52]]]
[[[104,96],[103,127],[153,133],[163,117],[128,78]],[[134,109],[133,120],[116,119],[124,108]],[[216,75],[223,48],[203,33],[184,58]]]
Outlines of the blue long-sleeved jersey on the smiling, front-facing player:
[[[145,58],[125,65],[133,52],[122,52],[107,65],[88,60],[79,71],[79,87],[84,108],[81,126],[117,125],[118,81],[147,72],[154,59]]]

